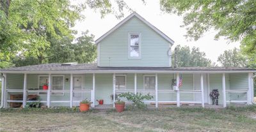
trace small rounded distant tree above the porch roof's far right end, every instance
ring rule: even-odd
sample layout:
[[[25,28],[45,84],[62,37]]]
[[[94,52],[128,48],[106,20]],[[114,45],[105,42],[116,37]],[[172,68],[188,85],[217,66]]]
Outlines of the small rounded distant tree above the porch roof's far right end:
[[[232,50],[225,50],[223,54],[218,57],[218,61],[222,66],[228,67],[246,67],[248,66],[248,59],[241,54],[240,50],[234,48]]]

